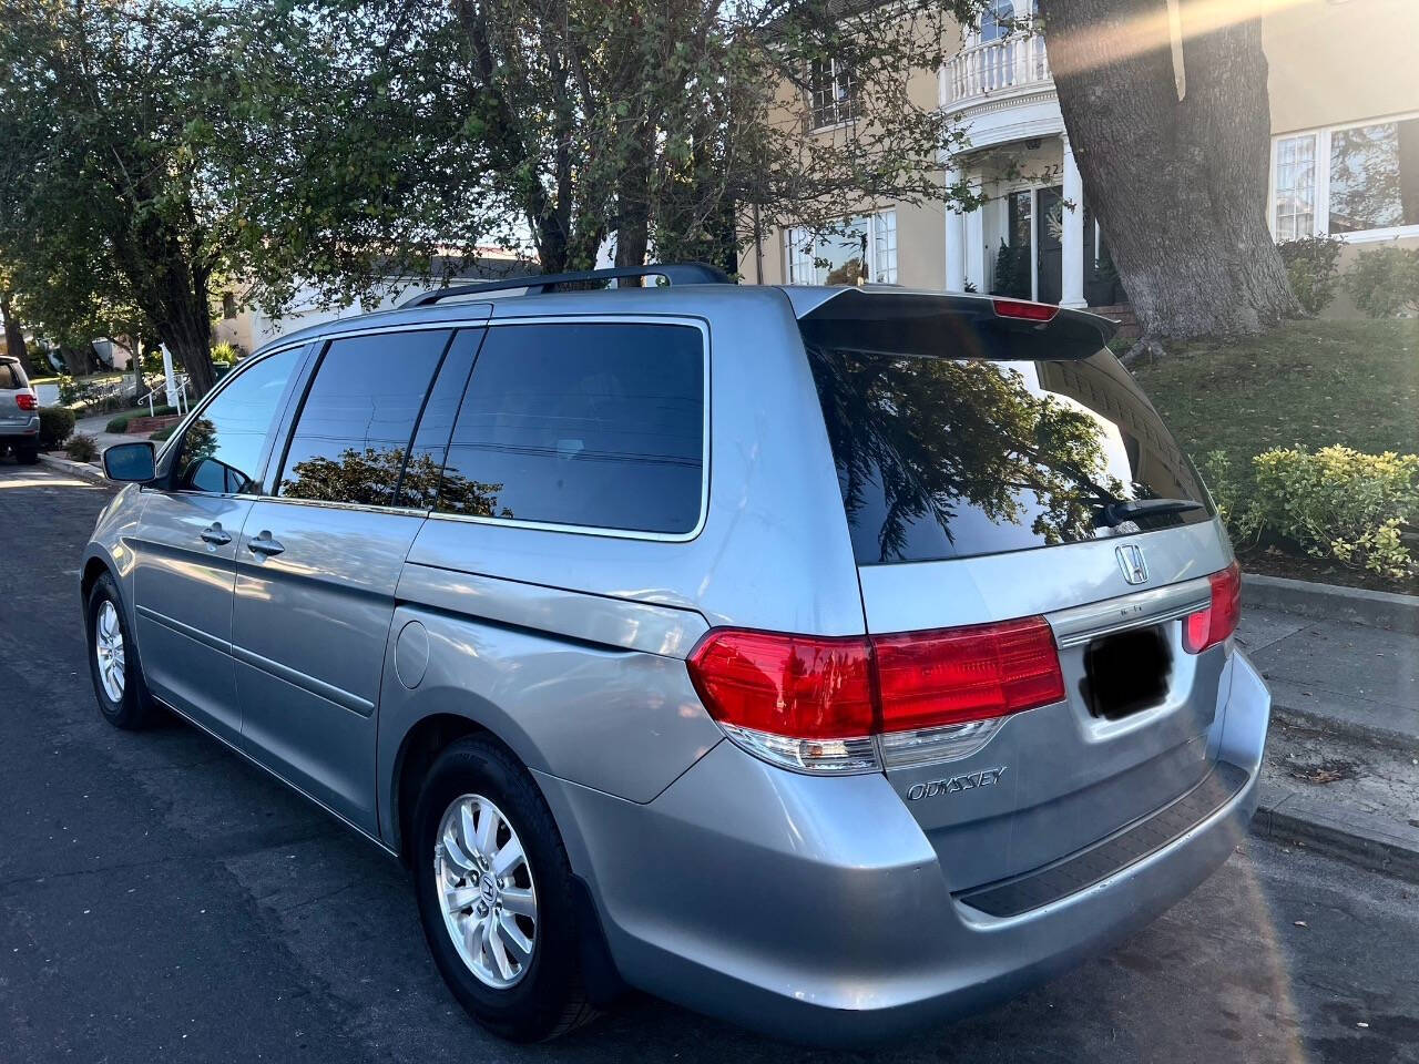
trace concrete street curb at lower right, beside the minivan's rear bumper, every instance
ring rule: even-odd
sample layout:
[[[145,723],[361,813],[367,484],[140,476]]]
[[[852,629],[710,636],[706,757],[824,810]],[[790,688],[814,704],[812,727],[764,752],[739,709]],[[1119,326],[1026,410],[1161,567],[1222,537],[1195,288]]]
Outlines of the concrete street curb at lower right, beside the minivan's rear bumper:
[[[1304,794],[1264,787],[1252,833],[1419,882],[1419,827],[1389,824],[1355,810],[1337,814],[1332,807]]]

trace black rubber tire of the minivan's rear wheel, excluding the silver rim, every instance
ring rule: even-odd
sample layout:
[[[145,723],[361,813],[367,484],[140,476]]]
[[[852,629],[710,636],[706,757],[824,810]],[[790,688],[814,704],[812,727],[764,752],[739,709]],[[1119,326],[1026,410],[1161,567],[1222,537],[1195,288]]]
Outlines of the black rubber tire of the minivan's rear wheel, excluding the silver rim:
[[[532,958],[521,980],[507,989],[485,985],[464,963],[438,899],[438,823],[464,794],[480,794],[502,811],[522,841],[536,891]],[[412,854],[429,951],[454,997],[478,1023],[511,1041],[545,1041],[596,1014],[582,982],[578,909],[562,837],[532,777],[505,746],[490,736],[470,736],[438,755],[414,809]]]

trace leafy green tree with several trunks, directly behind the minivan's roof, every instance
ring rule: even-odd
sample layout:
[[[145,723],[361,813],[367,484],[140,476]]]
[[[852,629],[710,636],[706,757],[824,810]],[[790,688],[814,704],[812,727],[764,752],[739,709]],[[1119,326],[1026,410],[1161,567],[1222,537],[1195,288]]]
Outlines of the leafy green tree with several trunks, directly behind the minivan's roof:
[[[622,265],[653,248],[732,268],[755,209],[762,230],[829,226],[847,201],[941,200],[939,159],[962,135],[910,98],[908,72],[939,65],[952,18],[976,3],[343,0],[277,13],[267,35],[318,30],[325,47],[292,60],[314,95],[244,155],[254,180],[299,187],[322,221],[272,210],[254,230],[329,267],[321,277],[346,298],[368,281],[341,262],[352,247],[417,268],[499,243],[559,271],[590,267],[613,237]],[[827,87],[824,70],[840,75]],[[849,79],[857,121],[805,138],[822,125],[810,92],[822,108],[836,87],[846,108]]]

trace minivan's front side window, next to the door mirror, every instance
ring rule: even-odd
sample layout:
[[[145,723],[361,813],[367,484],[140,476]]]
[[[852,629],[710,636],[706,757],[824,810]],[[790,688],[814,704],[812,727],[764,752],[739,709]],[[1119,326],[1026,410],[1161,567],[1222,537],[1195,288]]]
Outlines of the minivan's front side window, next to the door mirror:
[[[187,426],[177,445],[177,485],[187,491],[251,491],[271,423],[301,355],[291,348],[237,373]]]

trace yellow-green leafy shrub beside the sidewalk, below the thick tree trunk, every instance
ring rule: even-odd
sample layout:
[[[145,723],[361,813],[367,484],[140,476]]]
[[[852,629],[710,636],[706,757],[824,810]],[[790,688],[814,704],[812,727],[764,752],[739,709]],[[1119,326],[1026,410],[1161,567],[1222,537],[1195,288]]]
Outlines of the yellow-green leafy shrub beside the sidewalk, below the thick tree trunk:
[[[1401,538],[1419,518],[1419,454],[1276,448],[1253,467],[1259,526],[1315,558],[1395,579],[1419,572]]]

